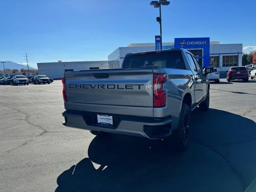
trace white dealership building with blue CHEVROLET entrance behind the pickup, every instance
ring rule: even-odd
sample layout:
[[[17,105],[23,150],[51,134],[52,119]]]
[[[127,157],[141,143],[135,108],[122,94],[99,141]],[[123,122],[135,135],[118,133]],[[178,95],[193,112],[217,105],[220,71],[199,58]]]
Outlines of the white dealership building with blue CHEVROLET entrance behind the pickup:
[[[202,68],[214,66],[226,71],[232,66],[242,66],[242,43],[220,44],[210,38],[175,38],[174,42],[163,43],[162,49],[184,48],[196,56]],[[118,47],[108,56],[109,68],[120,68],[127,53],[156,50],[155,43],[135,43]]]

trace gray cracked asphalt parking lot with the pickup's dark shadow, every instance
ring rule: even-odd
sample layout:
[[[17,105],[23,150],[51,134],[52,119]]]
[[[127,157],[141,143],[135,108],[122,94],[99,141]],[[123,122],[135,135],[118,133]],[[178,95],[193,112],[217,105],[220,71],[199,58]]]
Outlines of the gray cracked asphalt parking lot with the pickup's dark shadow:
[[[62,125],[62,84],[0,86],[0,191],[242,192],[256,178],[256,80],[210,85],[185,152]]]

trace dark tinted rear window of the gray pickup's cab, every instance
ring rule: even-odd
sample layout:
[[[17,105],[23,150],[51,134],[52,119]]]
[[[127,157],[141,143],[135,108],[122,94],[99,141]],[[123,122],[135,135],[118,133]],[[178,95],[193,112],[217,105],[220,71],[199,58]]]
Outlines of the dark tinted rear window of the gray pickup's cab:
[[[125,56],[123,68],[175,68],[186,70],[180,51],[134,54]]]

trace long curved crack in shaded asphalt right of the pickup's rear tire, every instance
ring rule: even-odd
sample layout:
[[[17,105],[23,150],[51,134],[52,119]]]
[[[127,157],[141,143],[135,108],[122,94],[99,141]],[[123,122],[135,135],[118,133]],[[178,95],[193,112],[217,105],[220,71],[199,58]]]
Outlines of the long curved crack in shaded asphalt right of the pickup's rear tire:
[[[193,141],[196,142],[197,144],[200,144],[200,145],[212,150],[214,153],[218,154],[227,163],[228,167],[231,170],[231,173],[242,184],[242,187],[244,188],[244,190],[246,189],[246,184],[244,183],[242,176],[236,171],[236,169],[232,166],[230,161],[222,153],[218,152],[216,149],[214,149],[209,144],[206,144],[205,142],[198,141],[198,140],[193,140]]]

